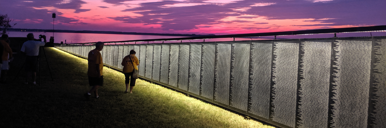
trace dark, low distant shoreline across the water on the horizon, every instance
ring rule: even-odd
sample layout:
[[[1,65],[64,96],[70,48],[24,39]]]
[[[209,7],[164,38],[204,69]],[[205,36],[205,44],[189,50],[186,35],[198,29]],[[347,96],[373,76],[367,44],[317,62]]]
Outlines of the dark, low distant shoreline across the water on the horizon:
[[[213,36],[208,35],[196,35],[196,34],[163,34],[163,33],[137,33],[137,32],[113,32],[113,31],[75,31],[75,30],[48,30],[48,29],[22,29],[22,28],[7,28],[8,32],[60,32],[60,33],[95,33],[95,34],[122,34],[122,35],[158,35],[158,36],[176,36],[176,37],[202,37]]]

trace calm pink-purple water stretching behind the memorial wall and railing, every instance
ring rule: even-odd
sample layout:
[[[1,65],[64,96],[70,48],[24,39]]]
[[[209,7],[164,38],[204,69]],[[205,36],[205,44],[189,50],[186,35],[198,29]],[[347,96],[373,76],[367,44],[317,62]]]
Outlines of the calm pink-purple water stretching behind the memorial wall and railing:
[[[27,34],[31,32],[9,32],[9,37],[27,37]],[[39,38],[39,35],[46,35],[47,40],[52,36],[52,33],[44,32],[32,32],[35,38]],[[122,35],[122,34],[95,34],[95,33],[54,33],[55,43],[90,43],[90,42],[111,42],[111,41],[124,41],[124,40],[143,40],[143,39],[160,39],[160,38],[179,38],[174,36],[154,36],[154,35]],[[367,36],[386,36],[386,32],[354,32],[354,33],[337,33],[337,37],[367,37]],[[328,34],[313,34],[313,35],[286,35],[277,36],[277,39],[293,39],[293,38],[330,38],[334,37],[334,33]],[[257,38],[236,38],[239,40],[270,40],[274,36],[269,37],[257,37]],[[232,41],[233,38],[217,38],[217,39],[205,39],[205,42],[218,42],[218,41]],[[203,42],[204,40],[183,40],[182,42]],[[177,43],[181,41],[165,41],[164,43]],[[137,42],[141,43],[141,42]],[[142,42],[147,43],[147,42]],[[162,43],[161,42],[149,42],[149,43]],[[119,43],[117,43],[119,44]]]

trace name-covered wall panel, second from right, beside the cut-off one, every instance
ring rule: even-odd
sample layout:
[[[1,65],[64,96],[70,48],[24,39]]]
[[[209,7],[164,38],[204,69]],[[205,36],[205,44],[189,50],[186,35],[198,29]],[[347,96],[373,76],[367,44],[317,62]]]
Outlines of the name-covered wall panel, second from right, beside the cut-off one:
[[[331,127],[367,127],[371,44],[362,40],[334,41]]]

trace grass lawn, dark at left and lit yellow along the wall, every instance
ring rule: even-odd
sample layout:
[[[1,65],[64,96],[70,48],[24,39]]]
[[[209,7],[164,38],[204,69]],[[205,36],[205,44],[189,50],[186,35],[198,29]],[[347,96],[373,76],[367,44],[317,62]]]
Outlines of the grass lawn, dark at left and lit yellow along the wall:
[[[137,80],[133,94],[124,93],[124,75],[107,67],[100,98],[92,93],[87,101],[87,60],[45,51],[54,82],[43,56],[40,85],[24,85],[23,70],[13,81],[24,62],[15,54],[10,83],[0,85],[0,127],[274,128],[144,80]]]

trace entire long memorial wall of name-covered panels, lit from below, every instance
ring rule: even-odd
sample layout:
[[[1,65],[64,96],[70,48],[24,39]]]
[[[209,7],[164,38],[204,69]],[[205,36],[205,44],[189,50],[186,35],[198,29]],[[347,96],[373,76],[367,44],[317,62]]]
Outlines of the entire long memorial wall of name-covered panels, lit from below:
[[[132,49],[142,79],[282,128],[386,126],[386,37],[105,45],[103,63]]]

